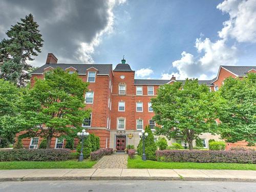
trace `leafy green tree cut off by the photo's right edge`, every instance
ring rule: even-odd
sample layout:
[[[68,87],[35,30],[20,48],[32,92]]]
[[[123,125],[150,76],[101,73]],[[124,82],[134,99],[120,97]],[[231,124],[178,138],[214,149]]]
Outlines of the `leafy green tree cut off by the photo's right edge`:
[[[256,74],[247,78],[227,78],[220,91],[218,118],[221,137],[227,142],[256,143]]]

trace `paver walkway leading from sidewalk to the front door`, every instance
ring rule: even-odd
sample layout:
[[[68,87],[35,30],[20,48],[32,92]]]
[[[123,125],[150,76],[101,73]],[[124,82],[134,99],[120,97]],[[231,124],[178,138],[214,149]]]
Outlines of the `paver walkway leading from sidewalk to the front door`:
[[[125,154],[106,155],[93,168],[127,168],[127,159]]]

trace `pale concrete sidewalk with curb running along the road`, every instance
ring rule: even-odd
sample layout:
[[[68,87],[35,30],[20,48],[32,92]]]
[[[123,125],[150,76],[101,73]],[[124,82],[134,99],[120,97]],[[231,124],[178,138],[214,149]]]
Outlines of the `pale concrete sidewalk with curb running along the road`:
[[[256,182],[256,171],[126,168],[0,170],[0,181],[35,180],[202,180]]]

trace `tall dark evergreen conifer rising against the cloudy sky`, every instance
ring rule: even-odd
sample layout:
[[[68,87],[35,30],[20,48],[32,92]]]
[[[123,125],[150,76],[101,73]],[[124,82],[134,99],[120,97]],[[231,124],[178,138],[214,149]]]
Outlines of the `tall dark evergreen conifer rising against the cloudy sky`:
[[[32,57],[41,52],[43,40],[32,14],[20,20],[0,42],[0,78],[25,86],[32,69],[26,61],[34,60]]]

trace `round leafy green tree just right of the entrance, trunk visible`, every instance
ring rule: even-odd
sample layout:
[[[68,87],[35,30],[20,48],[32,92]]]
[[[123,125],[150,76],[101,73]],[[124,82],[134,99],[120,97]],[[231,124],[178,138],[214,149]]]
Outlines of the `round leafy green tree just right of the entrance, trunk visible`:
[[[193,150],[193,140],[200,134],[217,131],[214,94],[197,79],[186,79],[183,87],[181,82],[165,84],[151,101],[153,119],[162,125],[156,128],[156,134],[168,139],[182,135],[189,150]]]

